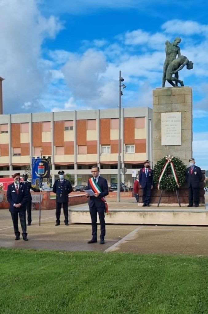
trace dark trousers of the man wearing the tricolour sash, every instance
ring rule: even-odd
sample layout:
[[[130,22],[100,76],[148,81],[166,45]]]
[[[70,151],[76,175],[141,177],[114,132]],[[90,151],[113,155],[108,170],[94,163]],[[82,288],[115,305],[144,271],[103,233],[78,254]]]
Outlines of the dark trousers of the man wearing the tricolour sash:
[[[105,236],[105,207],[90,207],[90,216],[92,221],[92,236],[94,240],[97,240],[97,215],[100,220],[100,239],[104,239]]]

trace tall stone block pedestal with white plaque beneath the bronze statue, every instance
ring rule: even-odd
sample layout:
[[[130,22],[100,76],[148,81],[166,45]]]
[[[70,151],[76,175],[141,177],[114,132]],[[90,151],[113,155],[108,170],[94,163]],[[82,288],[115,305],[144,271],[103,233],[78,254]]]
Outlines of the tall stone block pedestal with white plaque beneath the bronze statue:
[[[192,158],[192,89],[153,90],[153,164],[170,154],[186,165]]]

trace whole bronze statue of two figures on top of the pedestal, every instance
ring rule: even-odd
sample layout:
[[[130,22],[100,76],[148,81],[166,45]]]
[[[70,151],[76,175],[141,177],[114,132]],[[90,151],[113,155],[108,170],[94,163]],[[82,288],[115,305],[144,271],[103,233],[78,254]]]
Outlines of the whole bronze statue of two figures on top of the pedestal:
[[[178,46],[180,42],[180,37],[176,37],[172,43],[170,43],[170,41],[165,42],[166,59],[163,66],[162,87],[165,87],[166,80],[172,86],[178,86],[178,83],[184,86],[183,81],[178,78],[178,71],[182,70],[185,65],[188,70],[193,69],[194,63],[189,61],[187,57],[181,56],[181,50]]]

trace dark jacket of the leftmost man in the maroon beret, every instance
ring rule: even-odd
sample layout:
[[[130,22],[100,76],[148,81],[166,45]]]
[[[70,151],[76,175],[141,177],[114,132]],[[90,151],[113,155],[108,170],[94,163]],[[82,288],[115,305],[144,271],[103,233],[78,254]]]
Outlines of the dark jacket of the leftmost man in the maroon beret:
[[[28,193],[26,187],[20,182],[19,194],[16,192],[15,184],[9,184],[7,189],[7,200],[9,202],[10,212],[19,212],[26,210],[26,203],[28,201]],[[14,204],[21,203],[20,208],[14,207]]]

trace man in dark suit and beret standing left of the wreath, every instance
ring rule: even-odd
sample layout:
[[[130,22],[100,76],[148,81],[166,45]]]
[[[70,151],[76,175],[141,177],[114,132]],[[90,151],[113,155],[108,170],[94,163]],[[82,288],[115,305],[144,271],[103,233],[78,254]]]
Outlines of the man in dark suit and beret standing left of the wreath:
[[[149,160],[145,161],[144,168],[139,171],[139,185],[143,192],[142,206],[149,206],[153,188],[153,170],[149,167]]]

